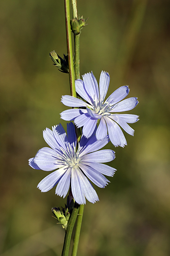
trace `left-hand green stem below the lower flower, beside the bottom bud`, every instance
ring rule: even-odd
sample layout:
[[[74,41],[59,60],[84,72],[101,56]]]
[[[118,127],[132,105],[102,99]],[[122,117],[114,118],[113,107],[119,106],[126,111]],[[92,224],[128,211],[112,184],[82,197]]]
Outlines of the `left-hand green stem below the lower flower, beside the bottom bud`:
[[[79,204],[75,203],[74,208],[71,213],[71,217],[70,217],[68,226],[67,226],[65,238],[64,238],[62,256],[68,256],[70,242],[71,242],[71,234],[73,231],[73,227],[74,227],[78,212],[79,212]]]

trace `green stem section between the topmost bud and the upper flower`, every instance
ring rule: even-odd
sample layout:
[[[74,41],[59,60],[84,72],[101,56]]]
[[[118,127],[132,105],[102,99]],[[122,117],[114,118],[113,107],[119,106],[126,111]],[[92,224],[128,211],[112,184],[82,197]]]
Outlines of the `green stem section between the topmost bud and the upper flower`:
[[[80,34],[74,35],[75,79],[80,79]]]

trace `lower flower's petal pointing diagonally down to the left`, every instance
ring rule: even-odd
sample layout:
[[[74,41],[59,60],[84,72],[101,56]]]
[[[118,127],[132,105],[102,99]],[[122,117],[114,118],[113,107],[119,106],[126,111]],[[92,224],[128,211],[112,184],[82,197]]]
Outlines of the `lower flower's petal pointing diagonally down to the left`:
[[[50,173],[42,181],[40,181],[37,187],[41,190],[41,192],[49,191],[58,183],[58,181],[60,180],[60,178],[65,172],[66,172],[66,169],[61,168],[56,170],[55,172]]]

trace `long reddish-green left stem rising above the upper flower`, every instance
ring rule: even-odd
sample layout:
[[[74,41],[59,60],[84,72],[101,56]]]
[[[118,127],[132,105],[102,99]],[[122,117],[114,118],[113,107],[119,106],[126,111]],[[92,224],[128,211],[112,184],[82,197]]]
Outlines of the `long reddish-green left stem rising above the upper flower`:
[[[70,91],[71,91],[71,96],[76,97],[75,81],[74,81],[73,54],[72,54],[72,42],[71,42],[70,2],[69,2],[69,0],[64,0],[64,3],[65,3],[66,37],[67,37],[67,54],[68,54]]]

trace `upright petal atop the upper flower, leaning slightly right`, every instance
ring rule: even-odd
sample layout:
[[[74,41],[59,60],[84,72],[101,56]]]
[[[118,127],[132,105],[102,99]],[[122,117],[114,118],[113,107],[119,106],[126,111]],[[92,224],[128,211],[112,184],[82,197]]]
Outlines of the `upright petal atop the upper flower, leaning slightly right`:
[[[106,97],[109,82],[110,82],[109,74],[107,72],[102,71],[100,75],[100,82],[99,82],[100,102],[104,101],[104,98]]]

